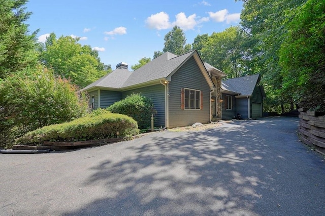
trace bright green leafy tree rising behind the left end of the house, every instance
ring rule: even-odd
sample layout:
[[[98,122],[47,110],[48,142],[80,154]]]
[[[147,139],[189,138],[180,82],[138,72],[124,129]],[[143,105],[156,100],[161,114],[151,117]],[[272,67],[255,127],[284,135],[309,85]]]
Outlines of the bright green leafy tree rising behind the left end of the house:
[[[110,72],[111,67],[101,63],[98,51],[87,45],[81,46],[78,40],[71,36],[56,39],[55,34],[51,33],[40,59],[47,67],[53,68],[55,75],[69,78],[83,88]]]

